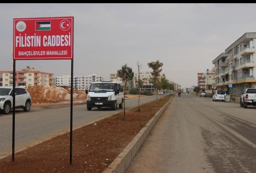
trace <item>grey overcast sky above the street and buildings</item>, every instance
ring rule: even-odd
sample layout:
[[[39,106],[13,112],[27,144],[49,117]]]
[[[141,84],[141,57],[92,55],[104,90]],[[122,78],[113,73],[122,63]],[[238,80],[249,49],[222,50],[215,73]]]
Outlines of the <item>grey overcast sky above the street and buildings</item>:
[[[74,75],[109,79],[124,63],[137,73],[148,62],[182,87],[246,32],[256,31],[255,4],[0,4],[0,70],[12,70],[13,18],[74,16]],[[70,60],[19,60],[54,76],[70,74]]]

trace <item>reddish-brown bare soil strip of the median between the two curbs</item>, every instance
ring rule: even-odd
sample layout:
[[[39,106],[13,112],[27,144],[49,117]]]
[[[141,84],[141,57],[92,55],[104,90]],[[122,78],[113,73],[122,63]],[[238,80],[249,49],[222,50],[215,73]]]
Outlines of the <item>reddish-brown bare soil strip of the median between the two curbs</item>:
[[[166,96],[73,131],[73,164],[69,164],[69,133],[0,160],[1,173],[101,173],[170,99]]]

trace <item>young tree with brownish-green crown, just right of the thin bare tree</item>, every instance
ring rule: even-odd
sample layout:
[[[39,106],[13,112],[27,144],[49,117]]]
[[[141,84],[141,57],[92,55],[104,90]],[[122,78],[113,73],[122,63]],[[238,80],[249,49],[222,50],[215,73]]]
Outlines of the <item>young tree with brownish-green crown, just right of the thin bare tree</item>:
[[[164,64],[161,63],[159,60],[157,60],[156,62],[148,63],[148,67],[153,70],[150,72],[151,75],[153,76],[153,77],[150,77],[150,83],[154,85],[155,90],[159,88],[159,76],[162,71],[161,67],[163,65]],[[156,93],[156,100],[157,100],[157,93]]]

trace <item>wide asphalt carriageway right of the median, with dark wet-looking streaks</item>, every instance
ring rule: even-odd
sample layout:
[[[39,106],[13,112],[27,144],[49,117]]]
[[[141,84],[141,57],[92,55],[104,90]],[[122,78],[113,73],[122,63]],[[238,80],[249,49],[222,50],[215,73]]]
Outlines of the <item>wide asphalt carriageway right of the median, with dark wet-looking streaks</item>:
[[[256,107],[175,96],[126,173],[255,173]]]

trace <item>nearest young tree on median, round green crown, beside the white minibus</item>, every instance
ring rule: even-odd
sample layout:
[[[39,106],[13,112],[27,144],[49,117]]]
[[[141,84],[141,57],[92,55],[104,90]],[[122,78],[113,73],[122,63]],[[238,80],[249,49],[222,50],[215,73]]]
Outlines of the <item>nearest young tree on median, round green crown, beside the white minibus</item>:
[[[121,69],[117,70],[118,77],[121,77],[124,82],[124,117],[125,121],[125,96],[126,96],[126,85],[129,80],[133,79],[134,73],[132,68],[128,67],[127,64],[124,64]]]

